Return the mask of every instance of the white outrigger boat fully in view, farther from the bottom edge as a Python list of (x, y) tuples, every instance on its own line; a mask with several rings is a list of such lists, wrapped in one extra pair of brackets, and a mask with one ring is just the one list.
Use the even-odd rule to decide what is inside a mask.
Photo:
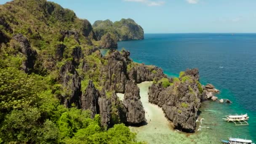
[(227, 122), (233, 122), (235, 125), (249, 125), (247, 121), (249, 117), (247, 114), (245, 115), (226, 115), (226, 118), (222, 118), (226, 120)]

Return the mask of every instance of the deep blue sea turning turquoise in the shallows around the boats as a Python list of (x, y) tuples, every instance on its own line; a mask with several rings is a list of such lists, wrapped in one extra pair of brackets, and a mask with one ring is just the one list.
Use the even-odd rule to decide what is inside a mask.
[[(161, 67), (170, 77), (197, 67), (200, 82), (212, 83), (219, 99), (232, 104), (207, 101), (202, 104), (205, 130), (216, 139), (239, 137), (256, 142), (256, 34), (145, 34), (144, 40), (118, 42), (118, 49), (131, 52), (139, 63)], [(248, 113), (249, 125), (235, 126), (221, 118)], [(215, 138), (213, 138), (215, 139)]]

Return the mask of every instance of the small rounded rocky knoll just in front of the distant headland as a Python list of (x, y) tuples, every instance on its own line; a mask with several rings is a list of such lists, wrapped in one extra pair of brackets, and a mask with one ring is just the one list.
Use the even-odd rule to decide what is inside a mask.
[(117, 48), (117, 40), (108, 32), (101, 37), (100, 48)]

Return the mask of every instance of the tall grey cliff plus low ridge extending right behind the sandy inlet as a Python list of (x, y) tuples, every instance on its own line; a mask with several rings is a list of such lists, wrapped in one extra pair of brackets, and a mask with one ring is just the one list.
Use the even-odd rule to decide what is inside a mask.
[[(104, 57), (107, 60), (107, 65), (101, 69), (101, 83), (106, 90), (124, 93), (125, 84), (128, 80), (141, 83), (146, 80), (154, 80), (154, 78), (157, 80), (166, 77), (163, 70), (155, 66), (136, 64), (133, 67), (134, 63), (129, 56), (129, 51), (119, 52), (112, 49)], [(128, 67), (131, 67), (131, 70), (128, 71)]]

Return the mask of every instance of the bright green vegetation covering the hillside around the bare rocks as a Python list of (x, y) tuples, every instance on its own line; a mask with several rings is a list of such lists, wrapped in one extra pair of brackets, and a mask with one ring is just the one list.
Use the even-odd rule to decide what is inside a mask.
[[(74, 64), (74, 67), (81, 77), (81, 91), (85, 91), (89, 80), (93, 80), (97, 89), (102, 88), (100, 71), (107, 60), (93, 50), (99, 42), (94, 40), (87, 20), (78, 19), (73, 11), (46, 0), (13, 0), (0, 5), (0, 21), (0, 33), (8, 39), (4, 42), (0, 39), (1, 144), (136, 143), (136, 134), (118, 124), (118, 107), (112, 107), (113, 125), (117, 125), (106, 130), (100, 123), (100, 115), (92, 119), (91, 112), (77, 109), (75, 104), (72, 108), (61, 104), (61, 96), (71, 93), (72, 81), (64, 85), (60, 78), (61, 67), (66, 62), (78, 62), (79, 66)], [(120, 33), (125, 31), (120, 29)], [(21, 71), (27, 59), (21, 51), (26, 48), (21, 50), (20, 43), (11, 39), (18, 33), (28, 40), (24, 45), (31, 45), (37, 52), (34, 73), (30, 75)], [(60, 44), (65, 48), (61, 59), (56, 60), (56, 54), (62, 55), (56, 51)], [(83, 54), (73, 53), (77, 47)], [(83, 60), (87, 70), (83, 70)], [(130, 69), (135, 65), (131, 63)], [(67, 76), (70, 78), (73, 74), (69, 72)], [(112, 92), (106, 94), (109, 98)]]

